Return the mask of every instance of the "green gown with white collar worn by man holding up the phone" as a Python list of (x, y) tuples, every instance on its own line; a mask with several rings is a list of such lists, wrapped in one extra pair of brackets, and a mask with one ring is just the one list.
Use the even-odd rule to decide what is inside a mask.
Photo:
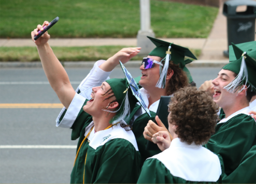
[[(60, 122), (73, 116), (73, 109), (79, 104), (78, 99), (84, 98), (76, 94), (68, 110), (61, 115)], [(79, 105), (80, 111), (71, 127), (72, 140), (79, 138), (77, 151), (94, 126), (92, 116), (82, 110), (87, 101)], [(65, 120), (63, 123), (65, 125)], [(117, 124), (96, 133), (93, 129), (81, 145), (70, 183), (136, 183), (140, 173), (140, 154), (133, 132), (125, 129), (130, 128), (122, 128)]]

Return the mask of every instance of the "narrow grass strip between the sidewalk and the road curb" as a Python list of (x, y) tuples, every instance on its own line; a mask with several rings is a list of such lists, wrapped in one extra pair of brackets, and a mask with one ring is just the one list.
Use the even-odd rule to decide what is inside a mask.
[[(52, 47), (56, 57), (61, 61), (96, 61), (108, 59), (125, 46), (98, 47)], [(201, 50), (190, 49), (198, 57)], [(142, 60), (143, 56), (135, 56), (132, 60)], [(0, 47), (0, 62), (34, 62), (39, 61), (35, 47)]]

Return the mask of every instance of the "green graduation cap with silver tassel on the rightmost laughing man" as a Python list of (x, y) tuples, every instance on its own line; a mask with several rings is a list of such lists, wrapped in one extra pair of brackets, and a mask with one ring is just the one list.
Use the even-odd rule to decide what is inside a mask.
[[(234, 93), (240, 86), (246, 84), (250, 91), (256, 91), (256, 41), (237, 45), (232, 43), (232, 47), (236, 60), (231, 61), (222, 69), (233, 71), (237, 76), (224, 89)], [(243, 89), (245, 86), (239, 91)]]

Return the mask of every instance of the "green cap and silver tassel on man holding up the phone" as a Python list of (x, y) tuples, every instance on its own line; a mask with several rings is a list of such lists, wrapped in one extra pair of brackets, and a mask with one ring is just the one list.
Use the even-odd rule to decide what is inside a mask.
[(110, 121), (112, 124), (120, 120), (126, 121), (129, 119), (130, 113), (133, 111), (138, 100), (133, 96), (131, 88), (126, 79), (109, 79), (106, 82), (110, 85), (113, 93), (117, 99), (120, 108), (117, 111), (103, 110), (109, 113), (116, 113), (117, 115)]

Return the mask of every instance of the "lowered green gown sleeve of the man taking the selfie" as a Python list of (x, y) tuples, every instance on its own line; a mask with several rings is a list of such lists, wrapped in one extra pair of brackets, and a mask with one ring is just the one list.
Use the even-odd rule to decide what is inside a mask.
[(108, 141), (96, 149), (94, 168), (97, 171), (93, 183), (136, 183), (140, 173), (140, 154), (124, 139)]

